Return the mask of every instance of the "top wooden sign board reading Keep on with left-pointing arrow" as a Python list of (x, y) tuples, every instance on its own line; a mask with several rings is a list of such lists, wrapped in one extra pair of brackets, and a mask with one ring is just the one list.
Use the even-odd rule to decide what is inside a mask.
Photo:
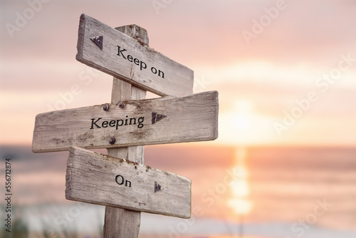
[(85, 14), (77, 60), (157, 95), (190, 95), (194, 73), (144, 43)]

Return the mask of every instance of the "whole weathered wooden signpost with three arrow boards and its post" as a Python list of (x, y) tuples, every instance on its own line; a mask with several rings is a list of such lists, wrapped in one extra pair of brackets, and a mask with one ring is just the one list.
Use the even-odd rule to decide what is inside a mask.
[[(70, 150), (66, 198), (105, 205), (106, 238), (137, 237), (140, 212), (189, 218), (191, 181), (143, 165), (142, 145), (215, 140), (218, 93), (192, 95), (193, 71), (148, 47), (135, 25), (82, 14), (76, 58), (114, 76), (111, 103), (37, 115), (33, 152)], [(165, 97), (144, 100), (146, 90)]]

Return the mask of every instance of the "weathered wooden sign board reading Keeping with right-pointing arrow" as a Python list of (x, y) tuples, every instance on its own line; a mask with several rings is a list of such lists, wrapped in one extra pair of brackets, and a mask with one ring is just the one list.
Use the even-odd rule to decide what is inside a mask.
[(36, 116), (33, 152), (215, 140), (218, 92), (127, 100)]

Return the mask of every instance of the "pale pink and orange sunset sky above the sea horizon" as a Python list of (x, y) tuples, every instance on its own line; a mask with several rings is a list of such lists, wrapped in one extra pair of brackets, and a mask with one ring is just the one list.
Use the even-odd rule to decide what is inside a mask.
[(112, 77), (75, 61), (82, 13), (144, 27), (195, 92), (219, 90), (213, 143), (356, 143), (354, 1), (29, 2), (1, 1), (0, 144), (31, 144), (35, 116), (74, 84), (63, 108), (110, 100)]

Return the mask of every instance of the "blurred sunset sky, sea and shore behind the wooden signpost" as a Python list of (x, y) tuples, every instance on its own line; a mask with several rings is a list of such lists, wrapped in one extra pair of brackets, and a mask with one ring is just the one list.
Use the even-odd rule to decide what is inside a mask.
[(151, 48), (192, 68), (194, 93), (219, 91), (217, 140), (145, 147), (146, 165), (192, 180), (192, 218), (142, 213), (140, 237), (356, 237), (355, 1), (1, 0), (0, 11), (13, 237), (103, 237), (105, 207), (64, 197), (68, 152), (31, 152), (38, 113), (110, 102), (112, 77), (75, 61), (83, 13), (142, 26)]

